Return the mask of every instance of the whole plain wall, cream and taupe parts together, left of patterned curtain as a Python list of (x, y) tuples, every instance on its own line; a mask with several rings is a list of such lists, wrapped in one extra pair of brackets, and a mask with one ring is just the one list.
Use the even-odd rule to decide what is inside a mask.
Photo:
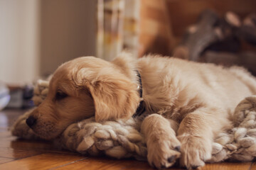
[(96, 2), (0, 0), (0, 81), (30, 83), (63, 62), (95, 55)]

